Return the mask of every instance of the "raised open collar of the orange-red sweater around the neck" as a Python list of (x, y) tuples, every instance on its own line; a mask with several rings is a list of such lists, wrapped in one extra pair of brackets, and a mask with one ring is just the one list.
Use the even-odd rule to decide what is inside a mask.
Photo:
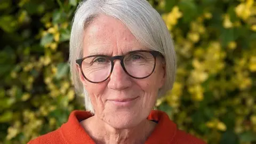
[[(95, 143), (79, 123), (91, 116), (93, 115), (89, 111), (74, 110), (71, 112), (68, 122), (60, 127), (61, 135), (67, 143)], [(163, 111), (158, 110), (151, 110), (148, 119), (157, 121), (158, 124), (145, 143), (171, 143), (177, 131), (176, 124)]]

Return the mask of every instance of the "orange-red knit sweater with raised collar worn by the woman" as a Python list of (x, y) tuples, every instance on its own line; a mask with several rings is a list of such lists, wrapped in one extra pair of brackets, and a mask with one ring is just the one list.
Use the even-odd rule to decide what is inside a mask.
[[(88, 111), (73, 111), (68, 122), (63, 124), (58, 130), (47, 133), (28, 142), (28, 144), (52, 144), (52, 143), (95, 143), (85, 132), (79, 121), (89, 118), (92, 115)], [(148, 119), (157, 122), (155, 130), (145, 143), (177, 143), (177, 144), (205, 144), (204, 141), (197, 139), (193, 135), (187, 134), (177, 129), (169, 117), (163, 112), (152, 110)]]

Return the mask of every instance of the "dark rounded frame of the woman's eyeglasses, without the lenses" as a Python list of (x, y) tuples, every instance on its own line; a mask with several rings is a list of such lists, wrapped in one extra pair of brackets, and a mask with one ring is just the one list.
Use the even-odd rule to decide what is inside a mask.
[[(150, 54), (153, 55), (154, 60), (155, 60), (155, 61), (154, 61), (154, 62), (155, 62), (155, 63), (154, 63), (154, 68), (153, 68), (153, 70), (151, 71), (151, 73), (150, 73), (148, 76), (145, 76), (145, 77), (134, 77), (134, 76), (130, 75), (130, 74), (127, 72), (127, 70), (125, 69), (125, 66), (124, 66), (124, 57), (125, 57), (126, 55), (128, 55), (128, 54), (135, 53), (135, 52), (148, 52), (148, 53), (150, 53)], [(158, 51), (147, 51), (147, 50), (130, 51), (129, 53), (126, 53), (125, 55), (116, 55), (116, 56), (114, 56), (114, 57), (110, 57), (109, 55), (97, 54), (97, 55), (90, 55), (90, 56), (84, 57), (84, 58), (82, 58), (82, 59), (77, 59), (77, 60), (76, 60), (76, 63), (77, 63), (77, 65), (79, 66), (79, 69), (80, 69), (80, 71), (81, 71), (83, 77), (84, 77), (87, 81), (89, 81), (89, 82), (91, 82), (91, 83), (102, 83), (102, 82), (106, 81), (106, 80), (111, 76), (111, 74), (112, 74), (112, 72), (113, 72), (113, 69), (114, 69), (114, 64), (115, 64), (115, 63), (114, 63), (114, 60), (117, 60), (117, 59), (120, 60), (121, 66), (122, 66), (123, 70), (125, 71), (125, 73), (126, 73), (127, 75), (129, 75), (129, 76), (132, 77), (132, 78), (143, 79), (143, 78), (147, 78), (147, 77), (149, 77), (151, 74), (153, 74), (153, 72), (154, 72), (154, 70), (155, 70), (155, 67), (156, 67), (156, 58), (157, 58), (157, 56), (158, 56), (159, 54), (161, 54), (161, 53), (158, 52)], [(90, 57), (106, 57), (106, 58), (108, 58), (108, 59), (111, 61), (111, 70), (110, 70), (110, 73), (109, 73), (108, 77), (107, 77), (106, 79), (104, 79), (103, 81), (100, 81), (100, 82), (93, 82), (93, 81), (90, 81), (90, 79), (86, 78), (86, 76), (84, 75), (83, 70), (82, 70), (82, 62), (83, 62), (84, 59), (90, 58)]]

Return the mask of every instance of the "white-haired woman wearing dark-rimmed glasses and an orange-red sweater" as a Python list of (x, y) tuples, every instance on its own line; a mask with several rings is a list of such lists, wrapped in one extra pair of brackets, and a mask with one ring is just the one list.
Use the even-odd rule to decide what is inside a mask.
[(73, 111), (58, 130), (29, 143), (204, 143), (177, 126), (156, 99), (172, 88), (173, 43), (144, 0), (79, 4), (70, 37), (70, 68), (88, 111)]

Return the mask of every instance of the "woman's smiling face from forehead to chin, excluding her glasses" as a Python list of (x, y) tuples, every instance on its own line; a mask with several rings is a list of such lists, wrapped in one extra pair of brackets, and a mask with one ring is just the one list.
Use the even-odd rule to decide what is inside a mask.
[[(135, 50), (149, 50), (131, 31), (113, 17), (100, 15), (84, 31), (83, 57), (94, 54), (124, 55)], [(89, 92), (95, 116), (116, 129), (134, 127), (147, 118), (165, 81), (165, 65), (157, 57), (154, 73), (144, 79), (130, 77), (120, 61), (115, 60), (107, 81), (90, 83), (79, 77)]]

